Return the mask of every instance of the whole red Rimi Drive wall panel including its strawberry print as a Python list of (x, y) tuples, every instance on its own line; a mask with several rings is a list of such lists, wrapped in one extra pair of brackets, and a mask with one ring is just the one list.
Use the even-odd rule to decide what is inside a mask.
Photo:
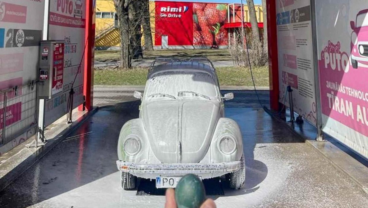
[[(226, 46), (227, 4), (155, 1), (155, 46)], [(185, 10), (185, 11), (184, 11)], [(180, 15), (180, 17), (179, 17)]]

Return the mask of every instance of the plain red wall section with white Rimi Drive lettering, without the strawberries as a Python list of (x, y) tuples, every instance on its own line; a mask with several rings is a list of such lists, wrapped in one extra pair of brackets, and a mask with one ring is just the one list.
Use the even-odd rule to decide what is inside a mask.
[(155, 45), (161, 45), (162, 35), (169, 46), (187, 46), (193, 42), (193, 3), (156, 1)]

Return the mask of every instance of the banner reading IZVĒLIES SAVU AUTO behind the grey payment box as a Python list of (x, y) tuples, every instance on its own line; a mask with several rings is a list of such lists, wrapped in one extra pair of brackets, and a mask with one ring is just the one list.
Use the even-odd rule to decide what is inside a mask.
[(74, 89), (73, 107), (83, 103), (85, 1), (50, 0), (49, 39), (65, 40), (65, 53), (63, 93), (46, 101), (46, 126), (67, 113), (67, 101), (71, 87)]

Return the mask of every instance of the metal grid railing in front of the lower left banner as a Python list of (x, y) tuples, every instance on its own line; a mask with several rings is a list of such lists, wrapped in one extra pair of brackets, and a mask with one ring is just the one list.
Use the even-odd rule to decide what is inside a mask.
[(0, 91), (0, 147), (38, 126), (37, 105), (36, 81)]

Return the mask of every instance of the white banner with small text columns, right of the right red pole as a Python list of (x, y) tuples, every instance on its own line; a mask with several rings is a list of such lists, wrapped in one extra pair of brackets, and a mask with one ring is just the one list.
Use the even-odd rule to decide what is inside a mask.
[(309, 0), (276, 0), (280, 102), (316, 125), (311, 6)]

